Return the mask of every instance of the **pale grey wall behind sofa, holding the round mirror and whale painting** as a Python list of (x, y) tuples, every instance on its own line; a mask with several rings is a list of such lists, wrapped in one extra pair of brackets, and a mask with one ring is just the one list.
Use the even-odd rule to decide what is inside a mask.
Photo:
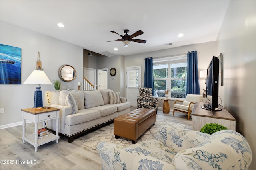
[[(2, 21), (0, 21), (0, 43), (22, 49), (21, 84), (0, 84), (0, 108), (5, 108), (5, 113), (0, 114), (0, 126), (22, 121), (20, 109), (34, 106), (36, 85), (22, 83), (36, 69), (38, 51), (42, 68), (51, 81), (60, 80), (58, 69), (64, 64), (70, 64), (76, 69), (75, 80), (72, 82), (61, 81), (60, 90), (64, 90), (68, 86), (77, 90), (78, 81), (82, 82), (83, 80), (82, 47)], [(45, 91), (55, 90), (53, 85), (42, 85), (41, 87), (43, 96)]]

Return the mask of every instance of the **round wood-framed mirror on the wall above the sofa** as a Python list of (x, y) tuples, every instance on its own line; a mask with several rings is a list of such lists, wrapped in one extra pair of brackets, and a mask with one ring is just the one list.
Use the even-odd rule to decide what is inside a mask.
[(70, 65), (63, 65), (59, 69), (59, 77), (64, 82), (70, 82), (76, 78), (76, 70)]

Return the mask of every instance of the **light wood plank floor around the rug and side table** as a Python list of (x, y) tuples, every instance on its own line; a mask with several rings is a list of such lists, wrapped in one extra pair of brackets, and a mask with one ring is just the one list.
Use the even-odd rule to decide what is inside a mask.
[[(131, 107), (131, 110), (136, 109)], [(172, 121), (186, 125), (186, 129), (192, 129), (192, 119), (187, 120), (184, 113), (172, 112), (164, 114), (158, 110), (157, 121)], [(38, 123), (38, 127), (42, 124)], [(35, 152), (34, 147), (22, 141), (22, 125), (0, 129), (0, 160), (6, 164), (0, 164), (0, 169), (15, 170), (100, 170), (102, 169), (100, 158), (96, 150), (86, 147), (82, 142), (90, 137), (94, 137), (105, 130), (113, 128), (113, 123), (82, 135), (72, 143), (68, 139), (60, 137), (59, 143), (56, 141), (41, 145)], [(34, 123), (26, 124), (26, 134), (34, 133)], [(131, 144), (132, 145), (132, 144)]]

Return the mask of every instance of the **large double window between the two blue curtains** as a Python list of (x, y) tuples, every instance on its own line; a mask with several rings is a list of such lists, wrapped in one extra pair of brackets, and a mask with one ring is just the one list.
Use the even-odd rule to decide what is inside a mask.
[(186, 98), (187, 56), (153, 59), (155, 96), (164, 97), (167, 88), (172, 98)]

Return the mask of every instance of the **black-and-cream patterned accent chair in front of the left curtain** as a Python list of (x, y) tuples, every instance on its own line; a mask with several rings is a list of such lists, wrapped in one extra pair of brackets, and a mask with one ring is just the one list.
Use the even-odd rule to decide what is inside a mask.
[(137, 109), (138, 108), (147, 108), (155, 109), (157, 114), (157, 98), (152, 96), (151, 87), (142, 87), (139, 88), (140, 96), (137, 96)]

